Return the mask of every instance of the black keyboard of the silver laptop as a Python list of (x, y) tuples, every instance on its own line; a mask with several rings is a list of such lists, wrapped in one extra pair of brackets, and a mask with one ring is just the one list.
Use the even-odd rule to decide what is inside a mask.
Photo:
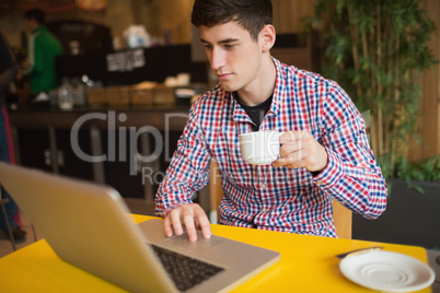
[(163, 267), (180, 291), (186, 291), (212, 276), (223, 271), (223, 268), (181, 255), (178, 253), (151, 245), (159, 256)]

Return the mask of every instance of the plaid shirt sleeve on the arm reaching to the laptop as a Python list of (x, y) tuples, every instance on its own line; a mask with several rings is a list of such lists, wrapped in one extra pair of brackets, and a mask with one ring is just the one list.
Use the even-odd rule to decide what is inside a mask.
[(162, 218), (184, 203), (192, 203), (195, 192), (209, 180), (211, 155), (194, 108), (155, 196), (155, 213)]

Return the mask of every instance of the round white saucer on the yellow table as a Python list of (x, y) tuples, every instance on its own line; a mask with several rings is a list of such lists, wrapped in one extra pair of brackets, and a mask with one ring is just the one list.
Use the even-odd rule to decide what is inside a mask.
[(371, 251), (347, 256), (339, 263), (343, 274), (369, 289), (408, 292), (432, 284), (432, 269), (413, 257), (392, 251)]

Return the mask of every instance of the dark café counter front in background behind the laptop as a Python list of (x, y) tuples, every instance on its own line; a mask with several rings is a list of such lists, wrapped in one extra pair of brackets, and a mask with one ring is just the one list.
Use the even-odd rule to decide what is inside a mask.
[(189, 105), (9, 110), (19, 164), (108, 184), (147, 201), (163, 178)]

